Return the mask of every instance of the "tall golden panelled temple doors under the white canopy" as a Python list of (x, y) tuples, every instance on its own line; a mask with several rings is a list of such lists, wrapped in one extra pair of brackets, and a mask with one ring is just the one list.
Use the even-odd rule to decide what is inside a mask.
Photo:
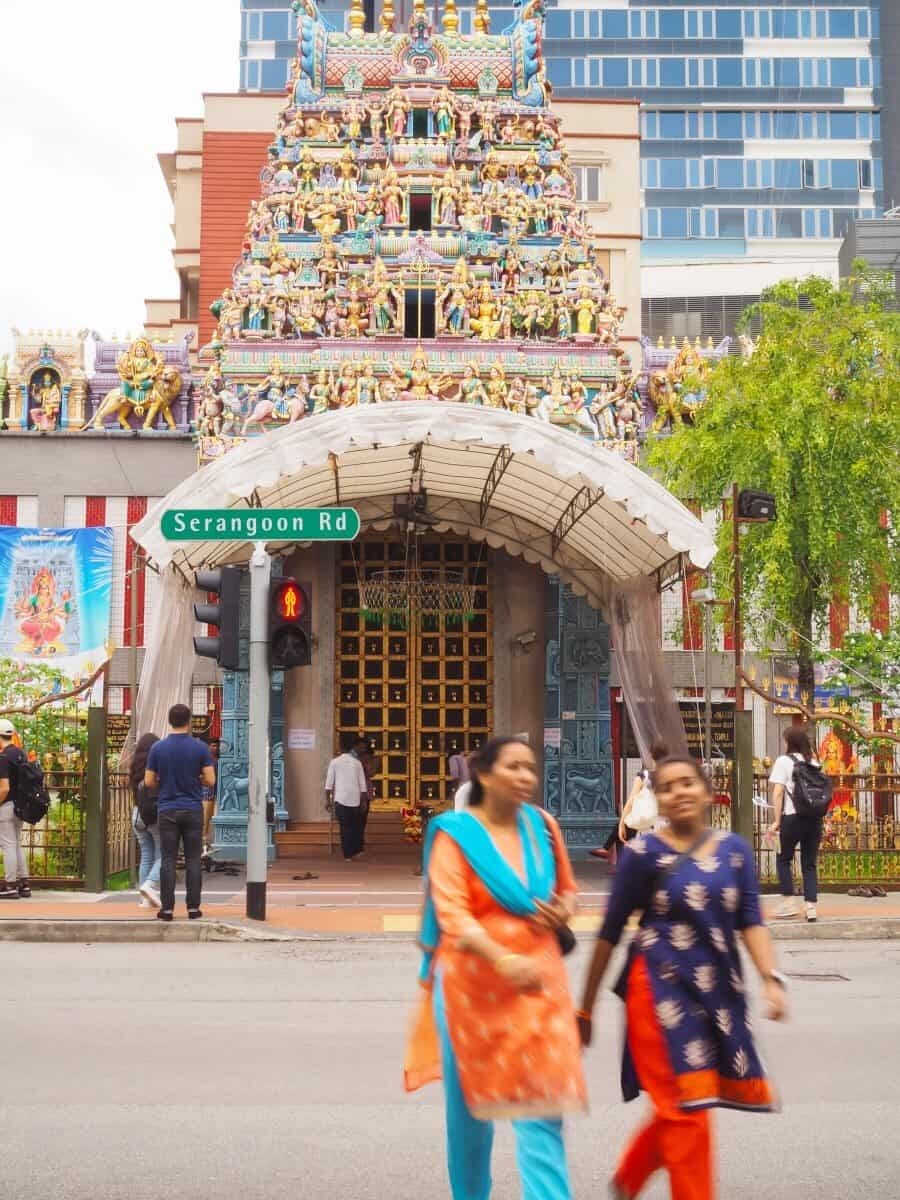
[[(360, 581), (409, 570), (463, 580), (469, 611), (365, 607)], [(452, 536), (425, 534), (410, 546), (370, 535), (341, 547), (336, 592), (335, 745), (342, 732), (371, 740), (378, 809), (442, 806), (452, 794), (450, 755), (480, 745), (493, 719), (487, 552)]]

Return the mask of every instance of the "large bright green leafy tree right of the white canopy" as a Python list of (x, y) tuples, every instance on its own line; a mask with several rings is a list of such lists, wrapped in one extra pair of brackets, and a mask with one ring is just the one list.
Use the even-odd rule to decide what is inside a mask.
[[(784, 282), (746, 311), (761, 334), (749, 359), (718, 364), (692, 426), (656, 438), (648, 468), (682, 499), (715, 509), (732, 484), (770, 492), (778, 520), (742, 539), (748, 631), (797, 658), (814, 691), (816, 628), (833, 596), (863, 610), (900, 584), (900, 319), (893, 278), (854, 264), (840, 287)], [(732, 589), (731, 529), (714, 577)]]

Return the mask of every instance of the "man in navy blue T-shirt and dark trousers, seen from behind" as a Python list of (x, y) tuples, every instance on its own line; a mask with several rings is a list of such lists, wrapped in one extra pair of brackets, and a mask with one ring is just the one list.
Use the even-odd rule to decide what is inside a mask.
[(214, 787), (216, 768), (209, 746), (191, 736), (191, 709), (173, 704), (169, 709), (169, 736), (150, 748), (144, 785), (158, 791), (160, 842), (160, 920), (172, 920), (175, 910), (175, 858), (178, 844), (185, 851), (187, 916), (200, 912), (200, 854), (203, 853), (203, 792)]

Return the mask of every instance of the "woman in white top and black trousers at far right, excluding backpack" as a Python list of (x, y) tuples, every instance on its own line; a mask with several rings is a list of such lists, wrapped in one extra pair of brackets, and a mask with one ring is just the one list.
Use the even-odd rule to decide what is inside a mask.
[(793, 770), (798, 762), (808, 762), (814, 767), (820, 766), (812, 754), (812, 746), (810, 745), (806, 731), (800, 725), (792, 725), (785, 730), (785, 752), (775, 760), (772, 774), (769, 775), (775, 820), (769, 826), (768, 832), (780, 836), (775, 866), (778, 869), (779, 887), (784, 896), (774, 916), (780, 920), (785, 920), (799, 917), (800, 914), (800, 900), (794, 895), (792, 875), (793, 856), (799, 846), (806, 920), (814, 922), (817, 916), (818, 870), (816, 863), (818, 859), (818, 846), (822, 841), (823, 816), (797, 811), (793, 802)]

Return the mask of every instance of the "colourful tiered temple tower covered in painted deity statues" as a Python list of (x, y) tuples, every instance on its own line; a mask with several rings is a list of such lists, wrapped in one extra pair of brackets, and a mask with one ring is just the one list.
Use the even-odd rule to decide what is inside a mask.
[[(502, 34), (376, 34), (296, 0), (298, 56), (233, 284), (214, 305), (200, 460), (329, 409), (502, 408), (634, 456), (624, 310), (586, 226), (541, 58), (542, 5)], [(238, 247), (235, 247), (238, 248)]]

